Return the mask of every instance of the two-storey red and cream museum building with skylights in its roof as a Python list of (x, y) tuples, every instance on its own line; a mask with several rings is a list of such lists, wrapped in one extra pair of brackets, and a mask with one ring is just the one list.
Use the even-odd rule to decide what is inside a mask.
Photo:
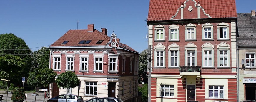
[[(71, 71), (80, 79), (78, 87), (68, 89), (88, 100), (93, 97), (117, 97), (137, 101), (139, 53), (120, 43), (114, 32), (107, 36), (88, 25), (85, 30), (69, 30), (50, 48), (50, 68), (61, 74)], [(50, 97), (66, 94), (56, 83), (49, 86)]]

